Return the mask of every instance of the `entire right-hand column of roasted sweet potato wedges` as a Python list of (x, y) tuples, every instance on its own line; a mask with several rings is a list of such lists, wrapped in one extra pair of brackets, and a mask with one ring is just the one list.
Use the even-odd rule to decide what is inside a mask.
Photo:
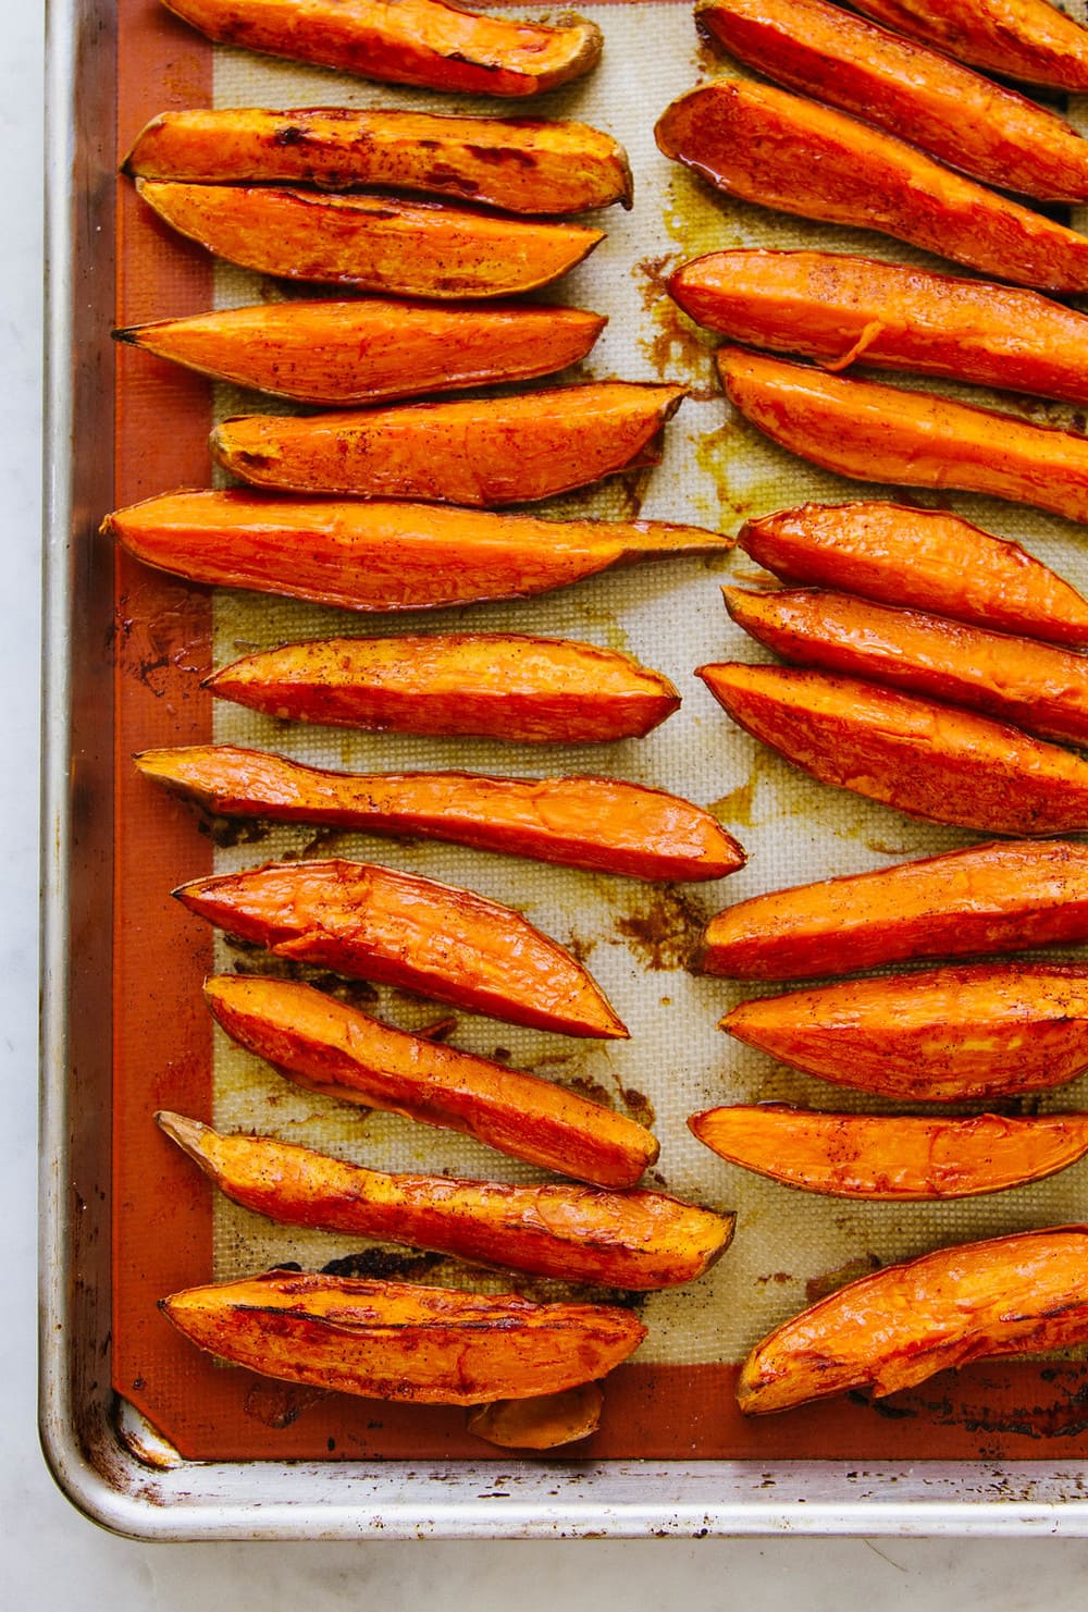
[[(969, 60), (1014, 74), (1020, 66), (1028, 77), (1028, 63), (1038, 69), (1044, 52), (1032, 56), (1025, 47), (1017, 55), (1017, 27), (1025, 35), (1036, 27), (1035, 42), (1046, 37), (1056, 56), (1064, 40), (1073, 64), (1067, 82), (1077, 82), (1075, 58), (1085, 53), (1083, 32), (1048, 6), (1003, 6), (1004, 50), (996, 52), (985, 39), (986, 29), (998, 29), (996, 10), (985, 3), (870, 6), (862, 0), (861, 8), (916, 35), (936, 31), (940, 44), (956, 40), (961, 53), (967, 44)], [(750, 202), (875, 227), (1025, 285), (1083, 284), (1075, 266), (1085, 261), (1082, 237), (1061, 226), (1049, 235), (1051, 221), (961, 181), (911, 148), (922, 145), (991, 184), (1036, 197), (1082, 198), (1088, 147), (1061, 119), (824, 0), (704, 0), (698, 21), (709, 39), (748, 66), (858, 114), (867, 126), (827, 106), (732, 81), (696, 90), (669, 108), (658, 126), (667, 155)], [(972, 55), (972, 42), (982, 42), (980, 53)], [(893, 137), (875, 132), (872, 124)], [(1043, 235), (1049, 235), (1056, 253), (1049, 266), (1035, 251)], [(1072, 329), (1059, 334), (1067, 310), (1030, 292), (827, 253), (766, 251), (720, 253), (688, 264), (671, 290), (701, 324), (733, 340), (814, 358), (827, 371), (862, 359), (877, 368), (1078, 400), (1078, 384), (1067, 385), (1059, 371), (1077, 361), (1082, 316), (1072, 314)], [(1003, 308), (1009, 316), (1004, 332)], [(1017, 358), (1012, 343), (1020, 335), (1025, 339)], [(1003, 351), (1006, 337), (1012, 342)], [(741, 351), (724, 351), (719, 366), (730, 400), (759, 429), (840, 474), (996, 493), (1078, 521), (1088, 514), (1088, 455), (1075, 434), (1041, 430), (945, 398), (843, 382)], [(740, 625), (787, 659), (819, 671), (729, 666), (704, 667), (701, 675), (741, 725), (816, 777), (935, 821), (1046, 832), (1048, 785), (1036, 761), (1041, 774), (1053, 764), (1054, 782), (1065, 769), (1072, 780), (1083, 762), (1054, 746), (1040, 748), (1015, 729), (1001, 730), (932, 704), (930, 696), (982, 708), (1048, 738), (1083, 743), (1075, 722), (1051, 722), (1044, 674), (1036, 679), (1027, 672), (1027, 687), (1019, 690), (1025, 667), (1032, 664), (1041, 674), (1054, 651), (1004, 637), (1027, 627), (1036, 640), (1083, 643), (1083, 632), (1069, 632), (1067, 622), (1062, 637), (1061, 625), (1048, 625), (1046, 611), (1035, 622), (1017, 619), (1022, 585), (1027, 582), (1030, 592), (1032, 582), (1041, 580), (1027, 556), (1014, 556), (1009, 545), (993, 543), (962, 522), (927, 513), (917, 513), (914, 521), (914, 514), (806, 509), (741, 532), (741, 545), (779, 575), (840, 588), (853, 582), (858, 593), (880, 603), (841, 592), (727, 590), (727, 606)], [(825, 548), (812, 535), (820, 524)], [(903, 538), (912, 527), (917, 555), (909, 551), (914, 534), (906, 545), (895, 537), (891, 545), (880, 542), (882, 529)], [(928, 538), (938, 530), (933, 546)], [(856, 537), (861, 542), (851, 553)], [(906, 559), (904, 579), (898, 575), (899, 559)], [(977, 595), (975, 559), (982, 561)], [(1024, 561), (1019, 575), (1015, 561)], [(820, 574), (822, 564), (828, 574)], [(999, 574), (1007, 582), (1004, 598)], [(941, 614), (920, 616), (919, 604)], [(986, 629), (964, 627), (964, 619), (982, 619)], [(1057, 653), (1061, 671), (1053, 663), (1049, 693), (1077, 703), (1088, 687), (1085, 663)], [(824, 671), (851, 675), (827, 677)], [(907, 688), (911, 696), (885, 696), (856, 677)], [(1009, 704), (1001, 698), (1006, 679)], [(927, 698), (917, 700), (917, 693)], [(980, 796), (969, 804), (975, 787)], [(1056, 827), (1051, 821), (1049, 832)], [(1062, 827), (1083, 827), (1083, 816), (1065, 819)], [(914, 956), (985, 953), (1006, 943), (1017, 948), (1080, 940), (1072, 912), (1073, 869), (1082, 856), (1083, 846), (1073, 843), (982, 846), (758, 896), (709, 925), (703, 966), (741, 978), (796, 978)], [(1059, 920), (1051, 929), (1053, 899), (1072, 919), (1069, 927)], [(741, 1003), (722, 1025), (795, 1067), (862, 1090), (899, 1099), (982, 1096), (1001, 1090), (998, 1049), (1006, 1035), (1014, 1048), (1006, 1090), (1015, 1090), (1020, 1075), (1048, 1080), (1057, 1074), (1064, 1016), (1069, 1009), (1073, 1020), (1078, 1017), (1086, 978), (1083, 969), (1073, 967), (946, 966)], [(1073, 1045), (1070, 1074), (1085, 1067), (1078, 1030), (1067, 1048)], [(1059, 1054), (1057, 1062), (1053, 1054)], [(1053, 1117), (1059, 1130), (1070, 1119), (1075, 1127), (1080, 1116)], [(880, 1138), (888, 1143), (880, 1154), (887, 1172), (882, 1185), (887, 1196), (895, 1196), (896, 1180), (912, 1170), (916, 1146), (925, 1153), (925, 1169), (938, 1170), (936, 1156), (945, 1161), (948, 1140), (949, 1170), (970, 1172), (974, 1140), (985, 1135), (982, 1146), (988, 1149), (1003, 1122), (967, 1122), (982, 1127), (975, 1138), (970, 1130), (953, 1136), (927, 1120), (796, 1114), (772, 1106), (754, 1111), (754, 1120), (745, 1109), (720, 1109), (695, 1124), (725, 1157), (751, 1165), (753, 1153), (764, 1149), (766, 1157), (774, 1154), (767, 1174), (795, 1185), (819, 1180), (824, 1190), (828, 1182), (851, 1180), (859, 1165), (870, 1169), (867, 1143), (872, 1138), (880, 1154)], [(869, 1183), (875, 1185), (872, 1177)], [(1057, 1332), (1048, 1330), (1035, 1309), (1048, 1285), (1035, 1256), (1049, 1259), (1082, 1236), (1083, 1227), (943, 1249), (853, 1283), (753, 1351), (741, 1372), (740, 1402), (750, 1412), (782, 1409), (866, 1383), (888, 1393), (938, 1365), (964, 1364), (1006, 1346), (1012, 1352), (1046, 1346)], [(1012, 1299), (1003, 1286), (1011, 1270), (1004, 1262), (1015, 1264), (1020, 1256), (1025, 1264), (1017, 1275), (1027, 1282)], [(998, 1343), (1017, 1306), (1025, 1332), (1019, 1341), (1007, 1332)], [(1062, 1341), (1082, 1341), (1083, 1314), (1073, 1319), (1077, 1306), (1070, 1309), (1067, 1301), (1059, 1307), (1070, 1320)], [(964, 1325), (965, 1317), (970, 1320)]]

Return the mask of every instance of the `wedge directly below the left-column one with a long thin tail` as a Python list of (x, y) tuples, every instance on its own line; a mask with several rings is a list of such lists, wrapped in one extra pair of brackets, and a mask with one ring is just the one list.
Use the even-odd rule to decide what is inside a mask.
[(208, 687), (300, 722), (530, 745), (640, 738), (680, 704), (627, 654), (498, 632), (290, 643), (234, 661)]

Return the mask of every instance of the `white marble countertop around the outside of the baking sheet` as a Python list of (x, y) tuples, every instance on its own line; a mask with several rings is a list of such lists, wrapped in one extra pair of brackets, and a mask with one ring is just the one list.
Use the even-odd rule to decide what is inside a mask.
[(39, 756), (39, 522), (42, 318), (42, 18), (8, 6), (0, 40), (0, 131), (8, 152), (0, 206), (8, 624), (0, 634), (0, 730), (6, 777), (0, 838), (0, 1056), (5, 1062), (8, 1296), (0, 1306), (0, 1607), (29, 1612), (261, 1612), (380, 1606), (385, 1612), (643, 1612), (730, 1604), (762, 1612), (856, 1604), (1073, 1612), (1088, 1599), (1088, 1541), (737, 1539), (583, 1544), (172, 1544), (118, 1539), (53, 1486), (35, 1430), (35, 924)]

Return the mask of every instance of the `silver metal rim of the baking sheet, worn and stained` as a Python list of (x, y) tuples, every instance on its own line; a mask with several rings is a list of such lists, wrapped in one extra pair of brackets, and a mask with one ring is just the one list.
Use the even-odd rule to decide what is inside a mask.
[(179, 1460), (116, 1402), (110, 1062), (97, 1035), (108, 958), (87, 946), (85, 924), (108, 914), (111, 887), (110, 703), (98, 698), (110, 653), (93, 609), (103, 577), (89, 559), (111, 466), (74, 453), (92, 419), (100, 430), (103, 400), (111, 406), (103, 243), (113, 239), (114, 44), (110, 0), (50, 0), (39, 1425), (56, 1483), (93, 1522), (161, 1541), (1088, 1536), (1083, 1462), (200, 1464)]

